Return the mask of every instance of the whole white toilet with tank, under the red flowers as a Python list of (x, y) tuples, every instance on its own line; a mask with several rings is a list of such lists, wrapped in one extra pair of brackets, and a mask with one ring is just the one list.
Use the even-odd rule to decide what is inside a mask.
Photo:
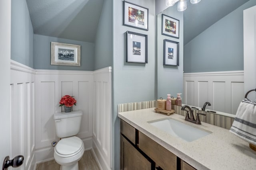
[(82, 111), (54, 113), (56, 135), (61, 138), (54, 148), (54, 159), (60, 170), (78, 170), (78, 160), (84, 154), (84, 143), (76, 137), (81, 125)]

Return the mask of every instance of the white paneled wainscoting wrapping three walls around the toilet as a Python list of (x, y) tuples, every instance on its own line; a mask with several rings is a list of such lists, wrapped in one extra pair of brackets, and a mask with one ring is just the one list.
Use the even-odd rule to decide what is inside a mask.
[[(20, 168), (53, 159), (52, 141), (58, 141), (53, 115), (64, 95), (74, 96), (82, 110), (78, 137), (92, 149), (102, 169), (111, 169), (111, 67), (96, 71), (35, 70), (11, 61), (12, 154), (24, 155)], [(94, 125), (94, 126), (93, 126)]]

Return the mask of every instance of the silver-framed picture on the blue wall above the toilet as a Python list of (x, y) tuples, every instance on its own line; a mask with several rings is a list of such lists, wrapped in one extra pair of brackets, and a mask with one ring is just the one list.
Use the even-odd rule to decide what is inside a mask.
[(51, 65), (80, 66), (80, 45), (51, 42)]

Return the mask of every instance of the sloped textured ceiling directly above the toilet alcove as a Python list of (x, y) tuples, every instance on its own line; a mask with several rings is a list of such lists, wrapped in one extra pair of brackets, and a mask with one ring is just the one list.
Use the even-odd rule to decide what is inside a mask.
[(104, 0), (26, 0), (35, 34), (94, 42)]

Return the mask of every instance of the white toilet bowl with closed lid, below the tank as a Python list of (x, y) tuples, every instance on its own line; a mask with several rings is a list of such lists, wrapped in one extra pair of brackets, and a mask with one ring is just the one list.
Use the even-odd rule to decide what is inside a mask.
[(61, 165), (60, 170), (78, 170), (83, 154), (84, 143), (75, 136), (60, 140), (54, 148), (54, 159)]

